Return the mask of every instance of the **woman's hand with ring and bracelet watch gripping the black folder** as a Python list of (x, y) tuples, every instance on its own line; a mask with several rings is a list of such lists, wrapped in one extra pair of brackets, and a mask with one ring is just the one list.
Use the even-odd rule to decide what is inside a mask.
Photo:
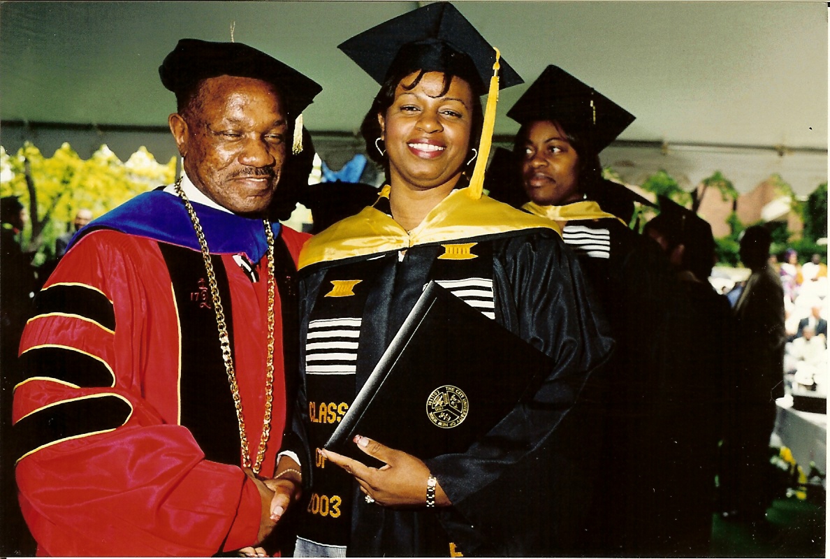
[[(429, 468), (412, 454), (390, 449), (366, 437), (356, 436), (354, 442), (364, 453), (386, 463), (383, 468), (369, 468), (342, 454), (320, 449), (320, 454), (354, 476), (361, 490), (385, 507), (423, 506), (427, 503)], [(438, 507), (452, 505), (440, 483), (435, 488)]]

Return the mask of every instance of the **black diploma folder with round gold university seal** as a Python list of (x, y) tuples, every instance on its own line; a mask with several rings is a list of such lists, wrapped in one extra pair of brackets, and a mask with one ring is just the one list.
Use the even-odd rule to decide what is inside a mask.
[(463, 453), (553, 360), (430, 282), (349, 406), (325, 449), (361, 461), (359, 434), (417, 458)]

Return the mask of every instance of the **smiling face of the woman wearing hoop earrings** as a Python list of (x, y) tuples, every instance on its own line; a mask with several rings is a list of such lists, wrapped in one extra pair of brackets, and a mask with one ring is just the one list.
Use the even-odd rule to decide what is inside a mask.
[(450, 190), (461, 177), (470, 147), (472, 90), (458, 77), (447, 87), (441, 72), (427, 72), (407, 89), (417, 75), (398, 83), (393, 104), (378, 115), (389, 178), (393, 188)]

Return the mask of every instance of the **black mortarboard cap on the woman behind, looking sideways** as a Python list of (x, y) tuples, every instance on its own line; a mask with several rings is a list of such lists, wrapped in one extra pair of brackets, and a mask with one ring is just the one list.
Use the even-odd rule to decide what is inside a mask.
[(565, 132), (585, 135), (599, 153), (635, 116), (558, 66), (548, 66), (507, 115), (525, 125), (554, 120)]

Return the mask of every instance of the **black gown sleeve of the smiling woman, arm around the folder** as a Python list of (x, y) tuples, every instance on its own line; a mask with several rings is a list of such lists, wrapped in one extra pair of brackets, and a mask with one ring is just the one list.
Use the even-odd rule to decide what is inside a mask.
[[(557, 428), (588, 375), (608, 359), (613, 341), (574, 254), (555, 236), (506, 239), (496, 248), (497, 314), (503, 324), (554, 359), (535, 395), (464, 454), (427, 461), (452, 501), (442, 525), (461, 550), (525, 554), (523, 534), (503, 532), (505, 512), (520, 514), (535, 498), (539, 478), (511, 470)], [(505, 371), (510, 374), (510, 371)], [(486, 381), (483, 380), (482, 381)], [(531, 471), (553, 467), (540, 453)]]

